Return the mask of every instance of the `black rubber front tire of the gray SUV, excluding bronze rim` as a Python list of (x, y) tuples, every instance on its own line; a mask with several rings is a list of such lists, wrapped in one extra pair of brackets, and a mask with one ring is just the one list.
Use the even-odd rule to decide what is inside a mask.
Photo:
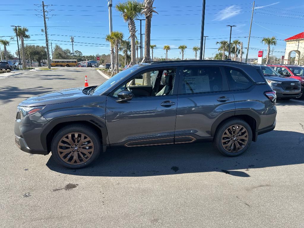
[[(66, 136), (67, 134), (73, 134), (73, 133), (80, 133), (81, 136), (82, 134), (88, 136), (90, 138), (90, 140), (88, 142), (90, 142), (89, 144), (93, 143), (93, 152), (91, 154), (91, 157), (88, 158), (87, 161), (85, 161), (85, 159), (82, 159), (81, 156), (83, 157), (86, 156), (84, 153), (79, 153), (79, 150), (81, 151), (81, 149), (83, 148), (78, 148), (78, 152), (74, 152), (74, 154), (77, 154), (76, 156), (76, 164), (71, 164), (71, 163), (67, 163), (63, 160), (63, 158), (67, 158), (67, 157), (71, 157), (74, 159), (74, 154), (73, 152), (69, 153), (69, 152), (66, 152), (67, 156), (66, 157), (63, 157), (61, 158), (59, 153), (58, 153), (58, 148), (60, 148), (61, 146), (58, 145), (60, 142), (62, 142), (62, 138), (64, 136)], [(77, 134), (78, 135), (78, 134)], [(76, 135), (74, 134), (74, 136), (76, 137)], [(74, 137), (74, 141), (72, 139), (73, 142), (77, 142), (77, 140), (75, 140), (75, 137)], [(77, 138), (79, 139), (79, 138)], [(81, 139), (79, 139), (78, 142), (80, 142)], [(87, 143), (87, 142), (84, 142), (84, 143)], [(77, 147), (79, 146), (82, 146), (82, 147), (85, 147), (84, 143), (82, 143), (81, 145), (77, 145), (75, 144)], [(61, 143), (60, 143), (61, 144)], [(74, 146), (74, 148), (76, 148), (76, 146)], [(62, 147), (61, 147), (62, 148)], [(63, 148), (70, 148), (70, 146), (68, 147), (63, 147)], [(72, 148), (71, 150), (74, 151), (74, 148)], [(91, 127), (87, 126), (87, 125), (84, 125), (84, 124), (70, 124), (70, 125), (67, 125), (63, 128), (61, 128), (53, 137), (53, 140), (51, 142), (51, 151), (52, 151), (52, 155), (55, 159), (55, 161), (62, 165), (62, 166), (65, 166), (67, 168), (71, 168), (71, 169), (78, 169), (78, 168), (83, 168), (83, 167), (86, 167), (88, 166), (89, 164), (91, 164), (92, 162), (94, 162), (99, 154), (100, 154), (100, 150), (102, 149), (102, 145), (101, 145), (101, 138), (100, 136), (98, 135), (98, 133)], [(66, 149), (59, 149), (59, 150), (66, 150)], [(61, 152), (60, 152), (61, 153)], [(64, 153), (62, 153), (64, 154)], [(61, 154), (61, 155), (62, 155)], [(64, 155), (65, 156), (65, 155)], [(86, 156), (87, 157), (87, 156)], [(81, 161), (80, 161), (81, 160)], [(69, 161), (69, 160), (68, 160)], [(82, 162), (81, 164), (77, 164), (77, 162)], [(75, 162), (75, 160), (74, 160)]]

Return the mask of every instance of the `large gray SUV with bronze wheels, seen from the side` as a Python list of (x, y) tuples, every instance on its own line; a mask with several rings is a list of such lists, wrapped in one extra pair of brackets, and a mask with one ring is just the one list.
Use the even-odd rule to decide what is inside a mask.
[(276, 95), (260, 66), (231, 60), (137, 64), (99, 86), (37, 95), (17, 107), (15, 141), (68, 168), (92, 163), (107, 147), (213, 141), (244, 153), (275, 128)]

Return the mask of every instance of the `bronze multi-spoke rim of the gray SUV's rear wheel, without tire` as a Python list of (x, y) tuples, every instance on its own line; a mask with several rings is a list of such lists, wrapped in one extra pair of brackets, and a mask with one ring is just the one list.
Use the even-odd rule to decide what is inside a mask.
[(248, 142), (248, 131), (242, 125), (235, 124), (228, 127), (222, 135), (222, 146), (229, 153), (237, 153)]

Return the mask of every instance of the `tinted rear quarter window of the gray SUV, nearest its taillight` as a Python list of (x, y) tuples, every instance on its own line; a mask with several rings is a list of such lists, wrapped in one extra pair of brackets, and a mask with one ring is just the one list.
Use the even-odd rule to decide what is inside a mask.
[(224, 67), (230, 90), (247, 89), (252, 82), (242, 72), (234, 68)]

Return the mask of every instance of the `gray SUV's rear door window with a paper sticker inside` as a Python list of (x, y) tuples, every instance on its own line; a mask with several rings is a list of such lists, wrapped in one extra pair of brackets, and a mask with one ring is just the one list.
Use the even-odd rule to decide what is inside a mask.
[(222, 91), (219, 67), (184, 67), (182, 94)]

